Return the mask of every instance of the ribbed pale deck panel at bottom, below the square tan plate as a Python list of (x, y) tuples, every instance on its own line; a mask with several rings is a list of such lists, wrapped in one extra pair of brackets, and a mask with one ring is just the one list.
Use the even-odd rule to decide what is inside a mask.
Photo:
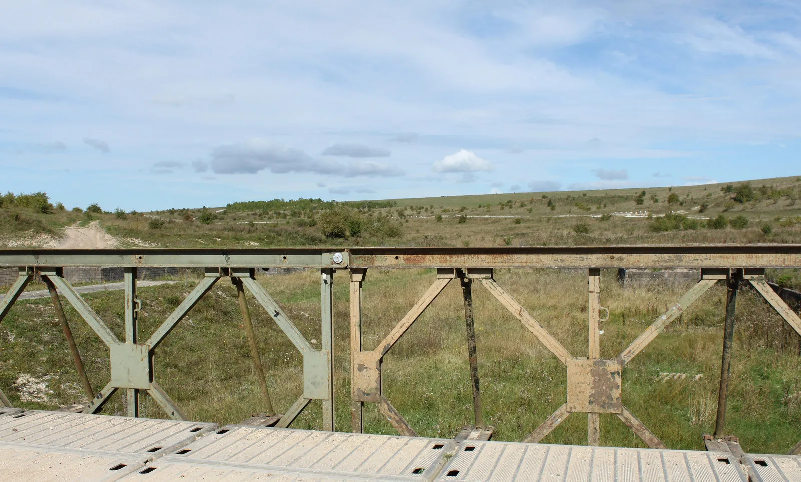
[[(747, 482), (731, 454), (636, 448), (462, 442), (437, 480)], [(790, 479), (792, 480), (792, 479)]]

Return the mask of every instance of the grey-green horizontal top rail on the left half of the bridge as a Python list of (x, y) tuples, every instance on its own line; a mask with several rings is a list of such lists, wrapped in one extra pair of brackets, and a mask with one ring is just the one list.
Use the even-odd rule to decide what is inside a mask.
[[(335, 254), (342, 255), (336, 263)], [(339, 259), (339, 256), (337, 256)], [(336, 248), (0, 249), (0, 267), (345, 267)]]

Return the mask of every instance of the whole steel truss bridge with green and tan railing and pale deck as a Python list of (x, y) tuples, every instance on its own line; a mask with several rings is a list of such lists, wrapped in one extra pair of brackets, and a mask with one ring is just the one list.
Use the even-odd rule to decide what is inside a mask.
[[(727, 394), (735, 307), (741, 284), (749, 284), (801, 335), (801, 319), (768, 286), (767, 268), (801, 267), (801, 245), (670, 247), (355, 247), (271, 249), (0, 250), (0, 267), (18, 277), (0, 300), (0, 322), (18, 295), (38, 277), (52, 303), (91, 400), (81, 413), (10, 407), (0, 392), (0, 478), (29, 480), (801, 480), (801, 441), (787, 455), (748, 454), (726, 430)], [(64, 278), (65, 267), (123, 267), (125, 337), (107, 323)], [(137, 270), (200, 268), (205, 276), (150, 335), (139, 333)], [(256, 268), (304, 267), (320, 271), (321, 347), (316, 349), (256, 282)], [(587, 356), (570, 353), (493, 278), (497, 268), (577, 268), (588, 286)], [(372, 268), (435, 268), (421, 299), (372, 350), (362, 345), (362, 287)], [(604, 268), (694, 268), (698, 280), (614, 359), (602, 359), (600, 277)], [(335, 334), (332, 286), (336, 273), (350, 285), (350, 383), (352, 432), (334, 429)], [(234, 283), (254, 369), (268, 411), (244, 424), (218, 427), (186, 420), (179, 404), (153, 372), (159, 343), (222, 278)], [(464, 299), (474, 424), (454, 440), (417, 436), (382, 386), (382, 360), (445, 287), (458, 283)], [(674, 319), (716, 283), (727, 285), (726, 320), (714, 434), (706, 452), (670, 450), (623, 404), (622, 376), (630, 363)], [(566, 400), (521, 442), (490, 440), (477, 375), (473, 285), (480, 284), (533, 333), (564, 365)], [(283, 414), (272, 408), (246, 297), (263, 307), (303, 356), (303, 394)], [(83, 369), (62, 310), (62, 299), (107, 345), (110, 380), (99, 392)], [(97, 382), (98, 380), (95, 380)], [(103, 416), (103, 405), (123, 391), (127, 416)], [(170, 420), (139, 417), (139, 399), (150, 396)], [(320, 400), (319, 431), (291, 428), (297, 416)], [(398, 436), (365, 434), (362, 409), (376, 404)], [(649, 447), (600, 446), (600, 414), (614, 414)], [(586, 414), (588, 447), (541, 444), (568, 416)], [(799, 428), (801, 439), (801, 428)]]

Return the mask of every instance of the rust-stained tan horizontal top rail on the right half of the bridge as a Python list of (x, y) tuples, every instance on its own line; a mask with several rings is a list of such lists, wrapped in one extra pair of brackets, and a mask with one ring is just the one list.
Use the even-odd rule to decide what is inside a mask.
[(801, 245), (356, 247), (349, 267), (801, 267)]

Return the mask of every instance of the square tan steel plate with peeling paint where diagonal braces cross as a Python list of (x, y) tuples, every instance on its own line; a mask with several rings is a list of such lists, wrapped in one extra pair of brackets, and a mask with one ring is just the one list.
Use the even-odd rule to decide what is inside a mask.
[(567, 361), (567, 411), (621, 413), (620, 374), (615, 359), (569, 359)]

